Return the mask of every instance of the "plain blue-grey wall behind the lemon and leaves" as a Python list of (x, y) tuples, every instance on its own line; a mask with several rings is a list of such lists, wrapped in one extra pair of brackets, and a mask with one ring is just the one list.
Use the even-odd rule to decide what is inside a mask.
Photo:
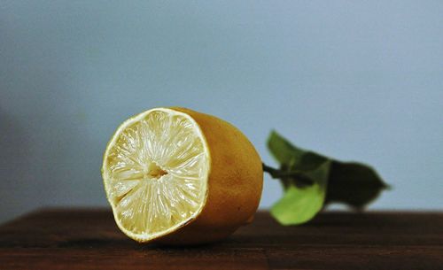
[[(99, 168), (128, 116), (229, 120), (270, 165), (271, 128), (375, 166), (371, 209), (443, 206), (443, 2), (0, 1), (0, 220), (107, 205)], [(281, 195), (265, 179), (261, 207)]]

